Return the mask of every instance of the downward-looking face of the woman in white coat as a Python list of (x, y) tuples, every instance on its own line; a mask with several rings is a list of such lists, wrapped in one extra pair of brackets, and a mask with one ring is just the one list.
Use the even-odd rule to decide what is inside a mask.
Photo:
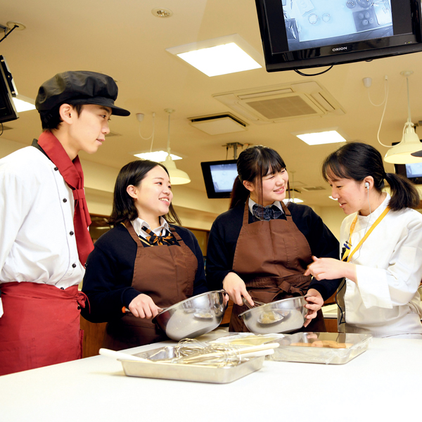
[(331, 196), (338, 200), (338, 204), (345, 214), (360, 212), (362, 215), (368, 215), (369, 203), (368, 193), (364, 186), (365, 181), (331, 179), (331, 177), (327, 177), (327, 179), (331, 186)]

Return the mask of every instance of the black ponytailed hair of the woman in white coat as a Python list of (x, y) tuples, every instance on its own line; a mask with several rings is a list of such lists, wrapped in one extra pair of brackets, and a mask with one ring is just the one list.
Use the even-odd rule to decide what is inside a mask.
[(411, 182), (395, 173), (385, 173), (383, 158), (376, 148), (362, 142), (350, 142), (338, 148), (324, 160), (322, 176), (326, 181), (353, 179), (362, 181), (365, 177), (373, 177), (373, 187), (381, 194), (384, 179), (388, 181), (391, 199), (388, 204), (391, 210), (399, 211), (406, 207), (415, 208), (420, 199)]

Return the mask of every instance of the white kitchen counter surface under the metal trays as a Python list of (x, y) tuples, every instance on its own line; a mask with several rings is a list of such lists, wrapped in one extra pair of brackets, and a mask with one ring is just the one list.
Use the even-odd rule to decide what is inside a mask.
[(374, 338), (345, 365), (265, 361), (207, 384), (132, 378), (95, 356), (0, 376), (0, 421), (404, 421), (421, 417), (421, 359), (422, 340)]

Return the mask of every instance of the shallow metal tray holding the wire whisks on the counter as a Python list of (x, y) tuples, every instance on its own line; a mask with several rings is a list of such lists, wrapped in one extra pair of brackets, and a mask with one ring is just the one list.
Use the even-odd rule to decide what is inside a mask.
[(151, 359), (151, 363), (119, 359), (127, 376), (217, 384), (231, 383), (243, 376), (258, 371), (262, 368), (265, 358), (264, 356), (254, 357), (236, 366), (222, 367), (153, 362), (156, 359), (173, 358), (174, 347), (171, 346), (148, 350), (148, 352), (137, 353), (134, 356)]

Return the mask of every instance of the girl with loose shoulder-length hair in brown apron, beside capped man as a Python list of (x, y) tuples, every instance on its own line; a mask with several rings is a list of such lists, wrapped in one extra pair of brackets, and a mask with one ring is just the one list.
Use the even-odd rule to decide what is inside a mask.
[[(134, 161), (120, 170), (110, 217), (115, 227), (94, 245), (82, 288), (91, 306), (82, 315), (108, 322), (103, 347), (167, 340), (151, 319), (160, 308), (207, 291), (198, 241), (167, 224), (179, 222), (171, 200), (167, 170), (157, 162)], [(124, 307), (131, 313), (123, 314)]]

